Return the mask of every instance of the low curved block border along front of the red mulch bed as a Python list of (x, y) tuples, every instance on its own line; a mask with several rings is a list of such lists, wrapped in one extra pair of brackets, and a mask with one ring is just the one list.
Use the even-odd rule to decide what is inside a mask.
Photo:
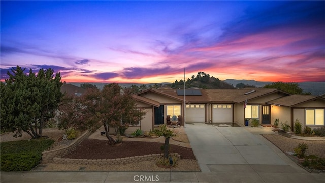
[[(164, 154), (152, 154), (152, 155), (143, 155), (143, 156), (134, 156), (127, 158), (116, 158), (116, 159), (106, 159), (106, 160), (92, 160), (92, 159), (70, 159), (70, 158), (53, 158), (52, 163), (58, 164), (82, 164), (82, 165), (120, 165), (126, 163), (134, 163), (140, 161), (150, 161), (155, 160), (159, 156)], [(181, 159), (181, 156), (178, 153), (171, 153), (178, 160)]]

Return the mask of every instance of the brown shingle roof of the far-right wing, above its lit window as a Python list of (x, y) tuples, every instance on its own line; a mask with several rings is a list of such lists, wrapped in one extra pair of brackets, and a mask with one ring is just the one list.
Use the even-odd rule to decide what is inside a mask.
[(288, 106), (288, 107), (292, 107), (295, 106), (297, 104), (303, 103), (303, 102), (307, 102), (310, 100), (314, 100), (316, 98), (319, 99), (323, 99), (322, 97), (316, 97), (316, 96), (311, 96), (311, 95), (290, 95), (290, 96), (285, 96), (279, 99), (275, 99), (272, 101), (267, 102), (268, 104), (273, 104), (273, 105), (280, 105), (280, 106)]

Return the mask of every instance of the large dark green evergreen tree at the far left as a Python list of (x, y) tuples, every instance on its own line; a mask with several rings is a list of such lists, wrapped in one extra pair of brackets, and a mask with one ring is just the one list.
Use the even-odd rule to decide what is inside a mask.
[(1, 84), (1, 128), (16, 132), (16, 137), (26, 132), (40, 138), (63, 96), (60, 73), (53, 78), (52, 69), (40, 69), (37, 75), (30, 69), (27, 75), (19, 66), (11, 71), (13, 74), (7, 72), (6, 84)]

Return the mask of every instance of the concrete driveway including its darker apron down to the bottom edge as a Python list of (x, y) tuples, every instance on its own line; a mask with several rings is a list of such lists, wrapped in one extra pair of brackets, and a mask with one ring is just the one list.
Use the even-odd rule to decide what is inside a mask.
[(197, 174), (201, 181), (325, 181), (323, 175), (311, 175), (260, 135), (274, 133), (271, 128), (191, 123), (185, 124), (185, 131), (202, 171)]

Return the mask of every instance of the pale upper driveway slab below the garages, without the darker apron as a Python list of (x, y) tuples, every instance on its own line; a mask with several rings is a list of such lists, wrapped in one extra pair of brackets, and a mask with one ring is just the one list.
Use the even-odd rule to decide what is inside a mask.
[(245, 127), (193, 123), (185, 130), (203, 172), (211, 171), (209, 165), (220, 164), (288, 165), (268, 146), (271, 143)]

